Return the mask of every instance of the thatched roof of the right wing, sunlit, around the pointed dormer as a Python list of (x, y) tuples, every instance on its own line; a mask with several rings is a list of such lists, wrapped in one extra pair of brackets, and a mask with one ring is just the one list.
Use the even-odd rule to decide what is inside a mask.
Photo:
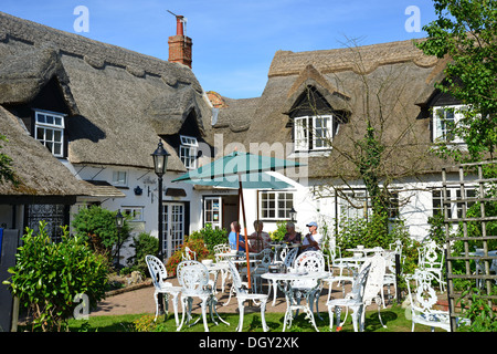
[[(423, 55), (412, 41), (300, 53), (278, 51), (262, 96), (252, 98), (251, 105), (225, 98), (230, 104), (220, 108), (224, 121), (215, 133), (226, 133), (224, 144), (240, 142), (246, 149), (256, 142), (285, 146), (293, 142), (295, 104), (313, 86), (334, 112), (347, 115), (348, 122), (340, 125), (329, 157), (309, 158), (309, 177), (357, 176), (353, 164), (339, 150), (357, 153), (353, 142), (363, 137), (364, 117), (371, 116), (379, 124), (380, 107), (382, 139), (391, 146), (385, 170), (405, 176), (438, 171), (441, 160), (429, 153), (430, 118), (421, 110), (433, 96), (444, 65), (444, 60)], [(369, 110), (364, 104), (368, 92)]]

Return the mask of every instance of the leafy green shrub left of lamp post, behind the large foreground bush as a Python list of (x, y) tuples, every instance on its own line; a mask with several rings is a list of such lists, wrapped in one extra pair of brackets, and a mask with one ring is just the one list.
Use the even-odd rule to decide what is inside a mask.
[[(110, 211), (99, 206), (82, 208), (72, 222), (74, 233), (87, 237), (95, 252), (113, 258), (113, 248), (117, 249), (129, 238), (129, 223), (124, 220), (120, 235), (116, 226), (117, 211)], [(118, 242), (119, 241), (119, 242)]]

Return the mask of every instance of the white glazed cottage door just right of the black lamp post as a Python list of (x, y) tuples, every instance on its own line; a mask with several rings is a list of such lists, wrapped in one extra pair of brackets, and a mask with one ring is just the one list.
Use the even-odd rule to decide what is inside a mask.
[(176, 248), (183, 243), (184, 205), (181, 202), (165, 202), (163, 205), (163, 254), (165, 259), (172, 256)]

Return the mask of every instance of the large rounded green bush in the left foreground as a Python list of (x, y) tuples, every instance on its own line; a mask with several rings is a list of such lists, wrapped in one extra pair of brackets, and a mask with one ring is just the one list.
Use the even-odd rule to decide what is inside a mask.
[(107, 261), (96, 254), (81, 237), (71, 237), (63, 228), (62, 241), (53, 243), (40, 222), (38, 233), (27, 229), (23, 246), (15, 254), (15, 267), (9, 284), (12, 295), (32, 312), (32, 330), (61, 331), (66, 327), (80, 302), (88, 298), (89, 306), (104, 299), (107, 284)]

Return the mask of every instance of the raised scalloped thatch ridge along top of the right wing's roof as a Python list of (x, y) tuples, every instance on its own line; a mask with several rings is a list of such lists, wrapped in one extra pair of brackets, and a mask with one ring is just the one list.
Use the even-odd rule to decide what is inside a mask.
[[(357, 64), (357, 55), (360, 55), (361, 65)], [(368, 74), (380, 65), (413, 62), (417, 66), (430, 67), (437, 61), (434, 56), (424, 55), (414, 45), (413, 40), (331, 50), (277, 51), (271, 63), (268, 76), (298, 75), (308, 64), (322, 74), (340, 71)]]

